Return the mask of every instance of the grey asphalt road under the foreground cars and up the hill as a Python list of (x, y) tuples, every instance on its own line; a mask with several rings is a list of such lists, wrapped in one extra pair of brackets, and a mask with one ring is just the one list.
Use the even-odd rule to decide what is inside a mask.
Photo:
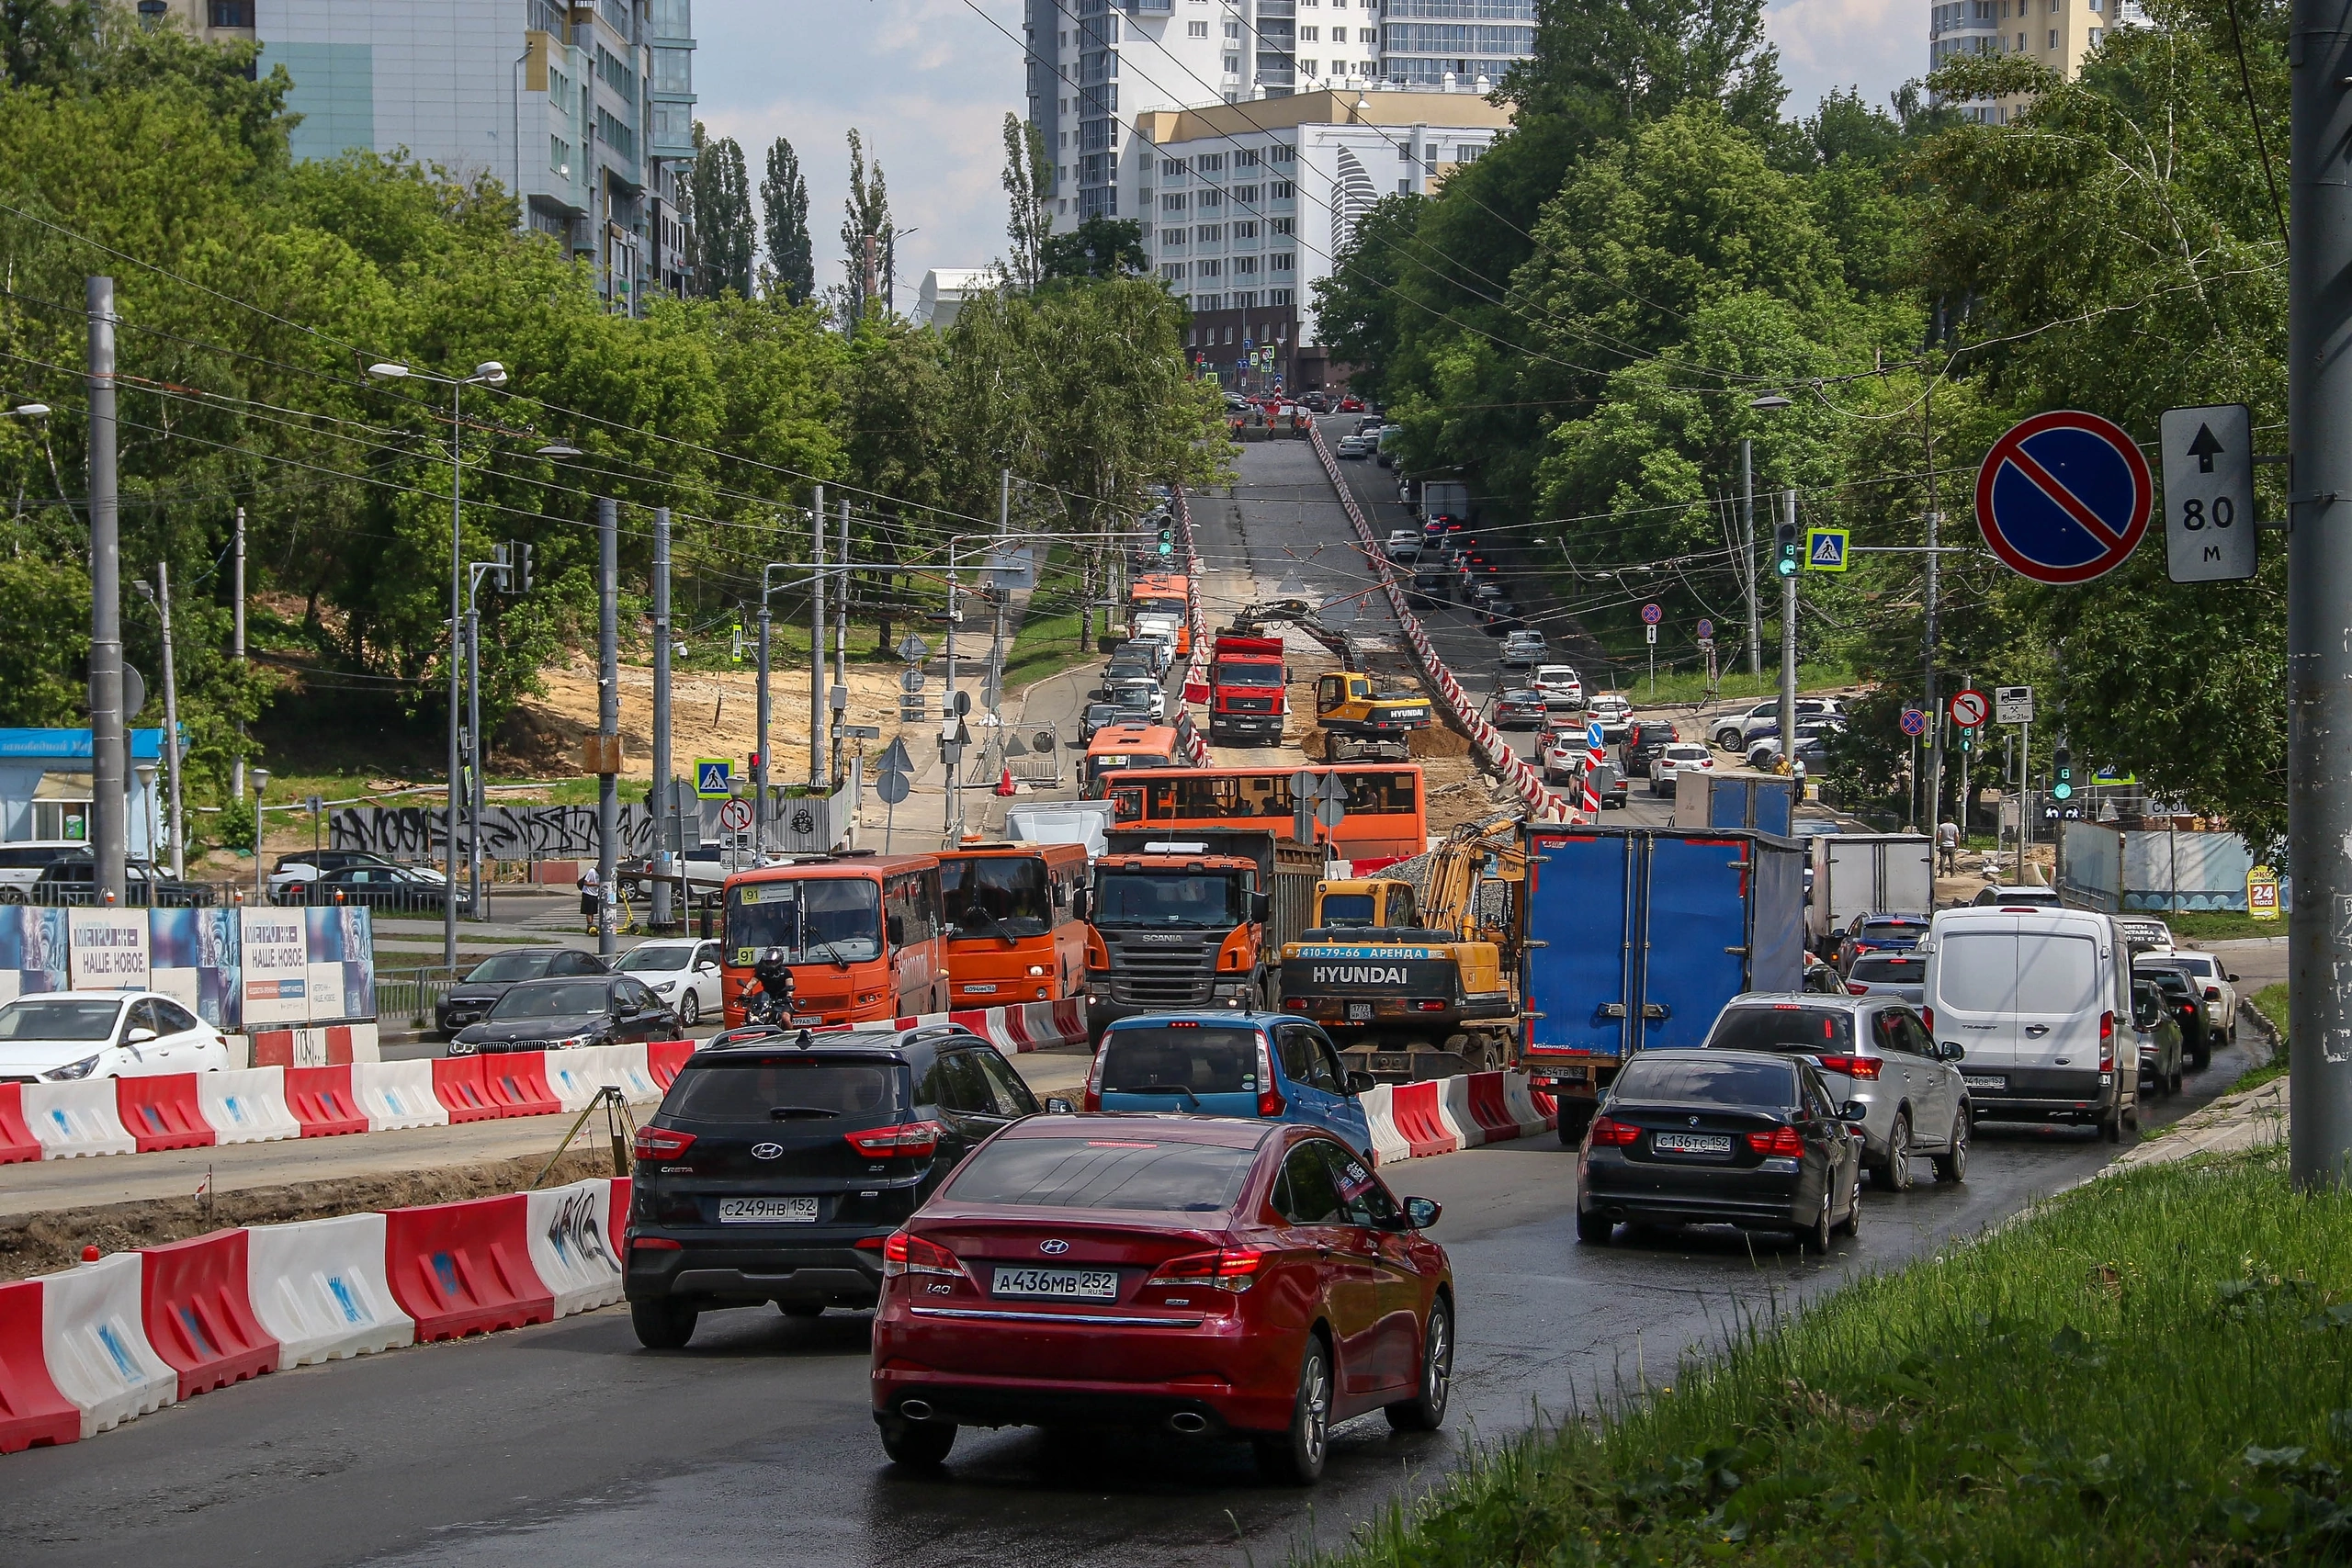
[[(1308, 451), (1251, 447), (1242, 480), (1195, 512), (1211, 609), (1270, 597), (1289, 571), (1308, 588), (1367, 583)], [(1458, 668), (1491, 663), (1475, 628), (1432, 616), (1432, 635)], [(1663, 811), (1635, 797), (1625, 816)], [(2209, 1100), (2244, 1065), (2239, 1048), (2218, 1053), (2159, 1114)], [(1446, 1206), (1435, 1234), (1461, 1293), (1454, 1413), (1425, 1436), (1381, 1418), (1343, 1427), (1312, 1493), (1258, 1483), (1240, 1448), (1073, 1448), (1035, 1432), (967, 1432), (946, 1474), (898, 1474), (868, 1415), (863, 1314), (710, 1314), (689, 1349), (644, 1352), (607, 1309), (275, 1373), (9, 1455), (0, 1509), (12, 1563), (1272, 1563), (1345, 1540), (1477, 1441), (1663, 1382), (1684, 1349), (1931, 1253), (2107, 1157), (2072, 1128), (1983, 1128), (1966, 1185), (1870, 1192), (1860, 1237), (1825, 1260), (1733, 1232), (1578, 1246), (1573, 1157), (1550, 1138), (1397, 1166), (1402, 1192)]]

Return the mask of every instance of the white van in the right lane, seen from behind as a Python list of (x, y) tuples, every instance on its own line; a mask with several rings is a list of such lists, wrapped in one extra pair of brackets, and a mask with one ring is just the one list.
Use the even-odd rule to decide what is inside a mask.
[(2131, 947), (2093, 910), (1936, 910), (1922, 1009), (1959, 1046), (1978, 1117), (2086, 1121), (2107, 1143), (2138, 1119)]

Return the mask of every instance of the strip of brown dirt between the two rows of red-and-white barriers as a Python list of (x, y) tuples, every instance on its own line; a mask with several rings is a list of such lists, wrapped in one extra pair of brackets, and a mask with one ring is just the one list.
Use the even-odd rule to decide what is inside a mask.
[[(292, 1187), (245, 1187), (209, 1197), (141, 1199), (92, 1208), (49, 1208), (0, 1218), (0, 1279), (54, 1274), (82, 1260), (85, 1246), (122, 1253), (136, 1246), (186, 1241), (240, 1225), (325, 1220), (372, 1208), (414, 1208), (522, 1192), (546, 1166), (543, 1154), (440, 1166), (400, 1175), (346, 1175)], [(612, 1175), (609, 1150), (572, 1152), (555, 1161), (543, 1187)]]

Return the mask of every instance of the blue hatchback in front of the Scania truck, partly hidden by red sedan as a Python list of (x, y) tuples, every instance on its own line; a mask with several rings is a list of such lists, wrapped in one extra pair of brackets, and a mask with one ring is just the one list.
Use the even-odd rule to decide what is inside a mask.
[(1087, 1074), (1087, 1110), (1181, 1110), (1249, 1121), (1298, 1121), (1371, 1154), (1350, 1074), (1331, 1039), (1291, 1013), (1136, 1013), (1103, 1030)]

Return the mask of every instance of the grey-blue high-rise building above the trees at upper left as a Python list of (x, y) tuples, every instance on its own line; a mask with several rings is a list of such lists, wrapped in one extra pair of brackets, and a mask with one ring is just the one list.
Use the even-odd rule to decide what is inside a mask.
[(294, 158), (407, 150), (489, 174), (590, 261), (614, 310), (687, 287), (691, 0), (143, 0), (285, 66)]

